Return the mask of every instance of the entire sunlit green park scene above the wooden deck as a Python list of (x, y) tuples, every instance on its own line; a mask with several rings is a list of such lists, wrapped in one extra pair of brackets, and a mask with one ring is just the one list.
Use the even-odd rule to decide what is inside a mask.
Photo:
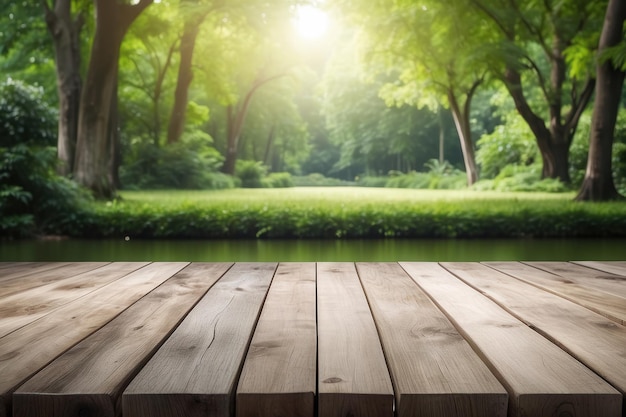
[(3, 260), (79, 256), (67, 237), (626, 248), (619, 1), (3, 3)]

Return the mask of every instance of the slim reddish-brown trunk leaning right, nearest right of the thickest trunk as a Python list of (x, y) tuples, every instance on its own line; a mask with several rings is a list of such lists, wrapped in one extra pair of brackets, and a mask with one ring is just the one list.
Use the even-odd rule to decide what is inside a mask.
[[(190, 3), (190, 0), (183, 1)], [(206, 17), (203, 14), (196, 18), (185, 19), (183, 36), (180, 42), (180, 64), (178, 66), (178, 79), (176, 81), (176, 91), (174, 93), (174, 106), (170, 116), (170, 123), (167, 130), (167, 143), (176, 143), (180, 140), (185, 129), (185, 114), (189, 101), (189, 86), (193, 80), (191, 64), (193, 62), (193, 51), (196, 46), (196, 38), (200, 31), (200, 24)]]

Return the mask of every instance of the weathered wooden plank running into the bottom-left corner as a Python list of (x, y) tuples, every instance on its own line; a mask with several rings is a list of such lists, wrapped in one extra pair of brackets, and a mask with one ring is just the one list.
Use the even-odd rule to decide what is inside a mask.
[[(31, 375), (98, 330), (187, 263), (136, 263), (136, 271), (0, 339), (0, 417)], [(145, 265), (145, 266), (144, 266)]]

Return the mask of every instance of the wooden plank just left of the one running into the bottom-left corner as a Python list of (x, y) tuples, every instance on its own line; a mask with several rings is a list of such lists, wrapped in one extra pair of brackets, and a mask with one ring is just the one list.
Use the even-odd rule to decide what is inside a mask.
[[(76, 276), (56, 279), (3, 298), (0, 304), (0, 338), (64, 304), (122, 278), (139, 266), (141, 265), (134, 262), (116, 262)], [(61, 272), (60, 276), (63, 276), (64, 270), (65, 268), (57, 268), (53, 272)], [(40, 281), (42, 278), (37, 274), (36, 279)]]

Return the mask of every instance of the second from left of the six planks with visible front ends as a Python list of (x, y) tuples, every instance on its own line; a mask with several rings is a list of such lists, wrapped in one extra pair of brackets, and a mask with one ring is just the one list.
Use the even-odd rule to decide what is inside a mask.
[(125, 390), (133, 416), (230, 416), (235, 386), (276, 264), (237, 263)]

